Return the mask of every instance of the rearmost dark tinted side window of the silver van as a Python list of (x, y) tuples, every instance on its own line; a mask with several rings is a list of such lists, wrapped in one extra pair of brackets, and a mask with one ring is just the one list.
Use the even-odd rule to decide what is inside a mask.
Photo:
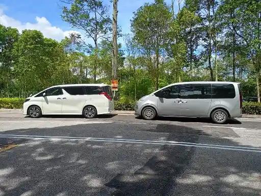
[(236, 97), (236, 92), (232, 84), (212, 84), (212, 99), (232, 99), (234, 97)]

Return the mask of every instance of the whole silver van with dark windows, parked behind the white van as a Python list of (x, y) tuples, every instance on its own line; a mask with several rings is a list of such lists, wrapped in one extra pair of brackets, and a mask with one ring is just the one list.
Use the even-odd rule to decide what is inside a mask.
[(208, 117), (215, 123), (242, 116), (240, 83), (197, 81), (168, 85), (137, 101), (135, 114), (161, 117)]

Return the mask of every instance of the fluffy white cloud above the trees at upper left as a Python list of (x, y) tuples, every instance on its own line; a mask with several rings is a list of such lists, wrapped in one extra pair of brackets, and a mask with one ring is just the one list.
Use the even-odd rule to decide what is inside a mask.
[[(51, 25), (51, 23), (45, 17), (38, 17), (36, 16), (35, 23), (22, 23), (19, 20), (15, 20), (12, 17), (7, 16), (4, 11), (5, 7), (0, 6), (0, 24), (4, 26), (11, 26), (21, 33), (22, 30), (29, 29), (29, 30), (38, 30), (43, 33), (44, 37), (52, 38), (55, 40), (62, 40), (65, 36), (69, 36), (70, 33), (76, 31), (63, 31), (57, 26)], [(77, 32), (79, 33), (79, 32)]]

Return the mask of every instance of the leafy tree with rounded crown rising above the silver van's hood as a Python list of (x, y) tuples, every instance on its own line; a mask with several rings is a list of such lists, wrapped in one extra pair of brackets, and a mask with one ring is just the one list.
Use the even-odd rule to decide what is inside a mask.
[(131, 20), (132, 32), (144, 50), (147, 68), (154, 80), (155, 90), (159, 88), (160, 57), (164, 53), (166, 34), (169, 28), (171, 12), (163, 0), (140, 7)]

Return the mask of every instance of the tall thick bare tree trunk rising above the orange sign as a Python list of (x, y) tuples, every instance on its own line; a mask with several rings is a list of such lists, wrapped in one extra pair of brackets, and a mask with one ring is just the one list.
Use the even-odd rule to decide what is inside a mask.
[(117, 57), (118, 57), (118, 45), (117, 45), (117, 8), (118, 0), (113, 0), (113, 20), (112, 20), (112, 78), (117, 78)]

